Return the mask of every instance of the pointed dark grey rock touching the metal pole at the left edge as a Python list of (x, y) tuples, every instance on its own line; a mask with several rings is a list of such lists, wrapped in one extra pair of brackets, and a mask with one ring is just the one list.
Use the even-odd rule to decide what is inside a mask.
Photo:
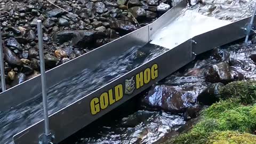
[(22, 61), (7, 47), (3, 47), (4, 60), (7, 61), (10, 65), (21, 66)]

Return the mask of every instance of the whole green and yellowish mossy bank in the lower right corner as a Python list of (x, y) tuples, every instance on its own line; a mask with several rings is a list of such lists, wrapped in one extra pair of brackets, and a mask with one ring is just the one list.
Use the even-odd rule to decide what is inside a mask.
[(203, 110), (193, 129), (164, 143), (256, 143), (256, 81), (231, 82), (222, 87), (219, 97)]

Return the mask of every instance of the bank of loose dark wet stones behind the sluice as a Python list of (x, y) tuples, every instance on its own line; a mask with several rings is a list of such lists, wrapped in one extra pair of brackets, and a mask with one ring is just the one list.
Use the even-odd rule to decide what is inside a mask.
[(49, 70), (154, 21), (171, 0), (1, 0), (7, 89), (39, 74), (36, 20)]

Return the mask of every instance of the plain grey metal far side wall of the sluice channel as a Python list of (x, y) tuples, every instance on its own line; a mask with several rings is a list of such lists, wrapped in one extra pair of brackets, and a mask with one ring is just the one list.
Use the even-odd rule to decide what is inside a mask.
[[(93, 51), (46, 71), (47, 87), (53, 86), (64, 78), (74, 76), (85, 68), (94, 67), (101, 61), (119, 55), (130, 49), (133, 45), (140, 46), (146, 44), (149, 41), (148, 35), (148, 26), (142, 27), (113, 42), (100, 46)], [(91, 61), (93, 61), (93, 63)], [(11, 107), (17, 106), (41, 93), (42, 87), (40, 76), (41, 75), (38, 75), (2, 92), (0, 94), (0, 111), (5, 111)]]

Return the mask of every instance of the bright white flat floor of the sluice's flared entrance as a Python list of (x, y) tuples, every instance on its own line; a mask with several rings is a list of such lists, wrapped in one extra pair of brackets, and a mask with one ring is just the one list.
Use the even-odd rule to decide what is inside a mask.
[(173, 49), (194, 36), (230, 23), (229, 21), (207, 17), (197, 12), (185, 11), (169, 25), (158, 30), (153, 36), (153, 41), (150, 43), (166, 47), (167, 49)]

